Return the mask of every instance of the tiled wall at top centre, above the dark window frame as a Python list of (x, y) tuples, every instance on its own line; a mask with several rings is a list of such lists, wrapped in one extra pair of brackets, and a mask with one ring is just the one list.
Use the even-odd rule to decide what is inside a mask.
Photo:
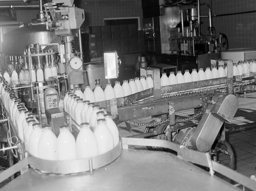
[(141, 0), (80, 0), (77, 6), (85, 11), (85, 25), (104, 25), (104, 18), (140, 17)]

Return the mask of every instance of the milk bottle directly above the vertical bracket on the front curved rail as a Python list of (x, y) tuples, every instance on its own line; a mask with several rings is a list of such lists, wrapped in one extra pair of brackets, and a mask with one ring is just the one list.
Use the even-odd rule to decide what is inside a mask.
[(98, 145), (89, 123), (82, 123), (76, 138), (77, 158), (89, 158), (98, 155)]

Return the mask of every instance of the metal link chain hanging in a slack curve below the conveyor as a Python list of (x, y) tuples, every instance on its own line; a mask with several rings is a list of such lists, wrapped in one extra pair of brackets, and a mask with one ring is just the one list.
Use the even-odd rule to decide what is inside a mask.
[[(190, 117), (187, 117), (187, 118), (184, 118), (184, 119), (175, 119), (175, 122), (181, 123), (181, 122), (191, 121), (191, 120), (194, 120), (196, 117), (199, 117), (202, 114), (203, 114), (203, 112), (197, 112), (194, 115), (191, 115)], [(126, 122), (128, 122), (129, 124), (138, 125), (138, 126), (157, 127), (157, 126), (162, 125), (164, 123), (170, 122), (170, 120), (165, 119), (165, 120), (161, 120), (161, 121), (153, 122), (153, 123), (135, 122), (133, 120), (127, 120)]]

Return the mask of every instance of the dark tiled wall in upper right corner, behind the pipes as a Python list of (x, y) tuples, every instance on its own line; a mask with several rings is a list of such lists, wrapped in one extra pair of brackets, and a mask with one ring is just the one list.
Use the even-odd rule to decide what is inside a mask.
[[(212, 7), (212, 15), (256, 10), (255, 0), (201, 0)], [(202, 13), (205, 8), (202, 8)], [(207, 13), (206, 13), (207, 14)], [(206, 21), (206, 18), (202, 19)], [(225, 33), (230, 48), (256, 48), (256, 13), (212, 18), (216, 33)], [(206, 25), (208, 26), (208, 25)], [(202, 29), (206, 30), (205, 27)]]

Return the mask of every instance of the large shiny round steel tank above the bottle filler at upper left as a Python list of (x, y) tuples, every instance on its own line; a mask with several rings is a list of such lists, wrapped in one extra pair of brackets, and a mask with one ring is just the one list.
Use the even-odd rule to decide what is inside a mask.
[(28, 44), (57, 42), (58, 38), (54, 31), (47, 31), (44, 24), (24, 26), (3, 35), (3, 51), (7, 55), (23, 54)]

